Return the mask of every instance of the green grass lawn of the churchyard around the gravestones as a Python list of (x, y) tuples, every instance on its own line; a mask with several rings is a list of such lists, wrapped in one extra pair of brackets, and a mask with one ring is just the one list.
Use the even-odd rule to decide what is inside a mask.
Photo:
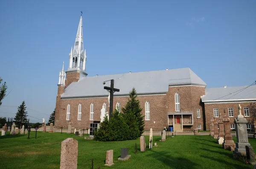
[[(91, 169), (91, 160), (94, 160), (94, 169), (180, 169), (180, 168), (227, 168), (251, 169), (253, 166), (233, 160), (233, 152), (222, 149), (216, 140), (208, 135), (177, 135), (167, 141), (159, 142), (160, 136), (154, 136), (153, 143), (158, 147), (148, 149), (148, 138), (145, 136), (147, 149), (140, 152), (140, 139), (132, 141), (98, 142), (84, 140), (66, 133), (37, 133), (28, 135), (0, 136), (0, 169), (59, 169), (61, 141), (66, 138), (75, 138), (78, 144), (78, 169)], [(236, 138), (234, 141), (236, 141)], [(249, 138), (251, 146), (256, 150), (256, 139)], [(138, 153), (135, 154), (135, 143)], [(154, 145), (154, 144), (153, 144)], [(118, 161), (121, 148), (129, 148), (131, 158), (128, 161)], [(113, 149), (114, 165), (104, 166), (106, 151)]]

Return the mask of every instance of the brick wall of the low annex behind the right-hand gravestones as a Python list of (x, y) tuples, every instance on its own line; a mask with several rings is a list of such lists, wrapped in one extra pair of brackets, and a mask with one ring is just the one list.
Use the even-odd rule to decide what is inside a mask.
[[(233, 108), (233, 113), (234, 116), (233, 117), (229, 117), (230, 118), (230, 124), (234, 124), (234, 120), (236, 118), (237, 115), (239, 115), (239, 111), (238, 111), (238, 105), (241, 105), (241, 114), (244, 115), (244, 107), (250, 107), (250, 102), (241, 102), (241, 103), (232, 103), (232, 102), (228, 102), (228, 103), (213, 103), (213, 104), (204, 104), (204, 108), (205, 108), (205, 118), (206, 118), (206, 130), (209, 130), (209, 125), (210, 125), (210, 120), (212, 118), (213, 114), (213, 109), (214, 108), (218, 108), (218, 112), (219, 114), (221, 114), (221, 118), (224, 117), (224, 114), (229, 116), (228, 113), (228, 108)], [(225, 111), (225, 113), (224, 113)], [(250, 108), (249, 108), (249, 112), (250, 112)], [(251, 120), (251, 114), (250, 117), (245, 117), (247, 119), (247, 121)]]

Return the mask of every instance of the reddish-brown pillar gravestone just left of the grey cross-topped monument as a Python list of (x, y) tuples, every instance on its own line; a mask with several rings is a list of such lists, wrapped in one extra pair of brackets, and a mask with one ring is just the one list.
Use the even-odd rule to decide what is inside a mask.
[(233, 141), (231, 132), (230, 132), (230, 118), (227, 118), (226, 115), (224, 115), (224, 127), (225, 127), (225, 139), (222, 144), (222, 148), (229, 149), (230, 151), (233, 151), (236, 147), (236, 144)]

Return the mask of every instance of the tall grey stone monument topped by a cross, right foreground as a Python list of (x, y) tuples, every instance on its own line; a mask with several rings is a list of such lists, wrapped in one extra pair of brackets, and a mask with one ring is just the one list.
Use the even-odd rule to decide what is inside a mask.
[(250, 146), (248, 143), (248, 135), (247, 135), (247, 120), (241, 115), (241, 106), (239, 104), (239, 115), (235, 118), (234, 123), (236, 126), (236, 148), (233, 151), (233, 158), (240, 159), (241, 155), (246, 155), (245, 146)]

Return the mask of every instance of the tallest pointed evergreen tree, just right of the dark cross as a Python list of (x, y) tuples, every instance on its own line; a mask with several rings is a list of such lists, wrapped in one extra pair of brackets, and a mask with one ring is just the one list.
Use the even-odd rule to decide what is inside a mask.
[[(137, 125), (140, 131), (138, 136), (141, 136), (144, 132), (145, 124), (143, 119), (145, 116), (141, 114), (142, 108), (140, 107), (140, 101), (136, 99), (137, 92), (134, 87), (130, 91), (129, 96), (130, 96), (130, 99), (128, 99), (128, 102), (125, 105), (125, 108), (122, 108), (122, 111), (124, 113), (124, 116), (129, 117), (131, 119), (133, 117), (132, 115), (129, 115), (129, 114), (133, 113), (136, 116)], [(127, 120), (127, 118), (125, 119)], [(131, 125), (131, 121), (128, 125)], [(133, 123), (132, 125), (135, 127), (134, 130), (136, 130), (136, 124)]]

